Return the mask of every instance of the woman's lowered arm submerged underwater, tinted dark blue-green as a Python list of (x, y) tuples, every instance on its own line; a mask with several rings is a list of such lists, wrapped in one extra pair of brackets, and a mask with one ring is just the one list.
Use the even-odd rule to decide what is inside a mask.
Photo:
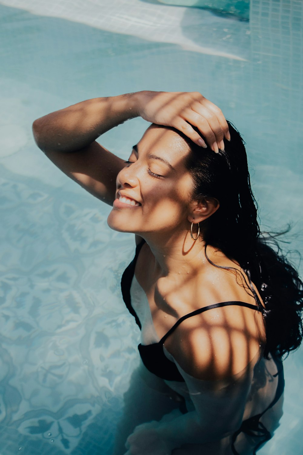
[[(243, 419), (247, 397), (245, 384), (239, 384), (239, 387), (233, 384), (230, 388), (220, 387), (222, 384), (219, 383), (215, 390), (207, 387), (203, 391), (199, 391), (194, 384), (188, 385), (193, 401), (190, 407), (194, 409), (189, 409), (186, 414), (174, 410), (159, 421), (137, 426), (127, 440), (129, 451), (125, 455), (177, 455), (178, 449), (186, 445), (191, 448), (193, 445), (205, 445), (212, 450), (228, 443), (230, 435), (238, 430)], [(207, 453), (221, 452), (214, 450)]]

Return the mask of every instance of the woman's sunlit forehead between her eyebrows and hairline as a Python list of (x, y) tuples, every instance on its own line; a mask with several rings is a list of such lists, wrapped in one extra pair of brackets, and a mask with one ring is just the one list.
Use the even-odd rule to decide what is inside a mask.
[[(179, 134), (165, 126), (152, 124), (138, 143), (139, 152), (165, 154), (170, 160), (180, 160), (189, 153), (189, 145)], [(183, 161), (183, 160), (182, 160)]]

